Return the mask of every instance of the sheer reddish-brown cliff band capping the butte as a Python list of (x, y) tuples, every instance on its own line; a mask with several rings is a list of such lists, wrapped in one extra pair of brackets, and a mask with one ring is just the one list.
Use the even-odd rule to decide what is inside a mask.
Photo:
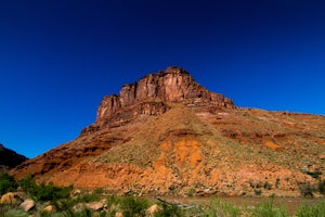
[[(105, 122), (119, 110), (139, 103), (142, 103), (140, 108), (146, 107), (151, 114), (155, 114), (155, 111), (161, 113), (167, 110), (164, 103), (151, 102), (144, 106), (145, 101), (179, 102), (188, 106), (210, 104), (220, 107), (235, 107), (232, 100), (208, 91), (197, 84), (186, 71), (173, 66), (157, 74), (146, 75), (136, 82), (122, 86), (119, 95), (105, 97), (99, 106), (96, 123)], [(140, 113), (143, 112), (140, 111)]]

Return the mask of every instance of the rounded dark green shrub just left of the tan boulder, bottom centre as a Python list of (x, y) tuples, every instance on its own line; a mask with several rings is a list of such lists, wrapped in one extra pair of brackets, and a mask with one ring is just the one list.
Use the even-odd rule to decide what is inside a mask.
[(145, 216), (148, 202), (142, 197), (125, 196), (120, 207), (125, 217)]

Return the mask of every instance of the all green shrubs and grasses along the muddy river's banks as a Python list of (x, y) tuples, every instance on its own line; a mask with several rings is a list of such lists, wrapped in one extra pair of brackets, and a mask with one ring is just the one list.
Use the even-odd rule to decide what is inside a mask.
[[(269, 182), (252, 183), (255, 188), (269, 189), (272, 186)], [(274, 204), (274, 197), (270, 201), (256, 206), (235, 206), (223, 202), (219, 197), (211, 197), (208, 205), (186, 205), (162, 200), (147, 200), (136, 196), (104, 196), (104, 189), (98, 188), (92, 191), (73, 192), (73, 187), (56, 187), (53, 183), (37, 184), (31, 177), (27, 177), (20, 181), (8, 174), (0, 176), (1, 194), (10, 191), (16, 191), (20, 188), (26, 193), (26, 199), (31, 197), (36, 201), (36, 208), (25, 212), (15, 204), (0, 204), (0, 216), (2, 217), (110, 217), (117, 214), (123, 217), (190, 217), (190, 216), (256, 216), (256, 217), (287, 217), (288, 210), (285, 207), (278, 207)], [(311, 183), (302, 183), (300, 186), (302, 195), (313, 195), (316, 190), (324, 193), (325, 181), (318, 182), (318, 186)], [(92, 208), (90, 204), (102, 203), (101, 208)], [(148, 214), (148, 208), (156, 205), (158, 209)], [(48, 212), (43, 208), (51, 205), (52, 210)], [(325, 201), (320, 201), (314, 205), (303, 205), (298, 208), (294, 216), (297, 217), (325, 217)]]

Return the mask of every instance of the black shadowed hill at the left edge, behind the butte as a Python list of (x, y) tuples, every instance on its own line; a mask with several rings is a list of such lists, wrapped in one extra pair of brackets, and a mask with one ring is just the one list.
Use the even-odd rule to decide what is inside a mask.
[(0, 173), (1, 173), (1, 168), (5, 169), (5, 168), (13, 168), (20, 164), (22, 164), (23, 162), (25, 162), (27, 159), (27, 157), (17, 154), (16, 152), (4, 148), (1, 143), (0, 143)]

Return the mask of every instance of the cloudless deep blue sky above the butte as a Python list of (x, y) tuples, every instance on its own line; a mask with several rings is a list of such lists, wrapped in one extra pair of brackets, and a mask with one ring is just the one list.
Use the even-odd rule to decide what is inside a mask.
[(325, 115), (324, 0), (1, 0), (0, 143), (34, 157), (178, 65), (239, 106)]

